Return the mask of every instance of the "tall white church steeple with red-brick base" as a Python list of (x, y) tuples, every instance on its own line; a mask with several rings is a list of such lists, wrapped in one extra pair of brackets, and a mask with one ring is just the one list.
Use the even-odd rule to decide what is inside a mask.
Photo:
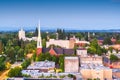
[(41, 41), (41, 32), (40, 32), (40, 20), (38, 24), (38, 38), (37, 38), (37, 54), (42, 53), (42, 41)]

